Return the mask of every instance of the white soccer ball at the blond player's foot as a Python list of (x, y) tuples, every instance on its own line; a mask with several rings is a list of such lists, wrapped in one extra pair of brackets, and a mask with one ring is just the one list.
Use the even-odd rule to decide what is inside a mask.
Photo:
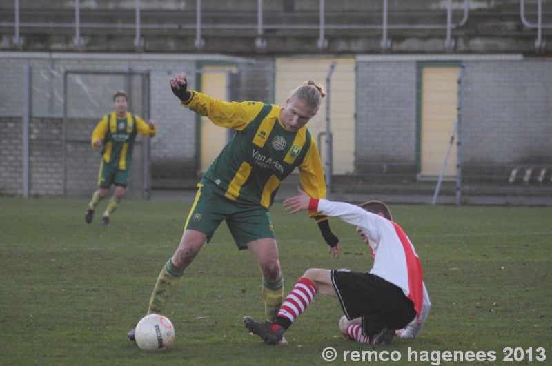
[(166, 316), (146, 315), (136, 325), (135, 340), (144, 351), (168, 351), (175, 340), (175, 327)]

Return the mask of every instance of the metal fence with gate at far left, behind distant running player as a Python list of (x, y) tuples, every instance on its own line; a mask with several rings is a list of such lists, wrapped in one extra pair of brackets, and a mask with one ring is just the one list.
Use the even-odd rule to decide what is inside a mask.
[[(21, 75), (14, 77), (13, 70)], [(101, 161), (90, 136), (101, 116), (112, 110), (115, 90), (127, 90), (130, 110), (148, 118), (147, 73), (24, 65), (0, 72), (0, 80), (6, 94), (0, 108), (0, 194), (89, 196), (97, 187)], [(136, 140), (129, 197), (149, 197), (148, 142)]]

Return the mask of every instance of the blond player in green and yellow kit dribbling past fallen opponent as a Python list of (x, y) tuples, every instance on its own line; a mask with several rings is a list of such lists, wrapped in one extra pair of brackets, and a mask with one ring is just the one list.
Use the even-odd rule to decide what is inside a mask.
[[(245, 101), (228, 103), (187, 90), (184, 74), (170, 81), (181, 105), (236, 134), (205, 172), (186, 220), (184, 234), (157, 278), (148, 314), (160, 313), (179, 287), (186, 267), (210, 241), (221, 221), (226, 221), (239, 250), (248, 249), (262, 273), (265, 315), (273, 321), (284, 298), (284, 279), (268, 209), (283, 179), (296, 167), (304, 190), (326, 196), (326, 184), (315, 140), (306, 123), (317, 114), (322, 86), (308, 81), (291, 92), (282, 108)], [(339, 239), (331, 232), (328, 217), (310, 212), (333, 256), (339, 257)], [(134, 340), (134, 330), (128, 333)]]

